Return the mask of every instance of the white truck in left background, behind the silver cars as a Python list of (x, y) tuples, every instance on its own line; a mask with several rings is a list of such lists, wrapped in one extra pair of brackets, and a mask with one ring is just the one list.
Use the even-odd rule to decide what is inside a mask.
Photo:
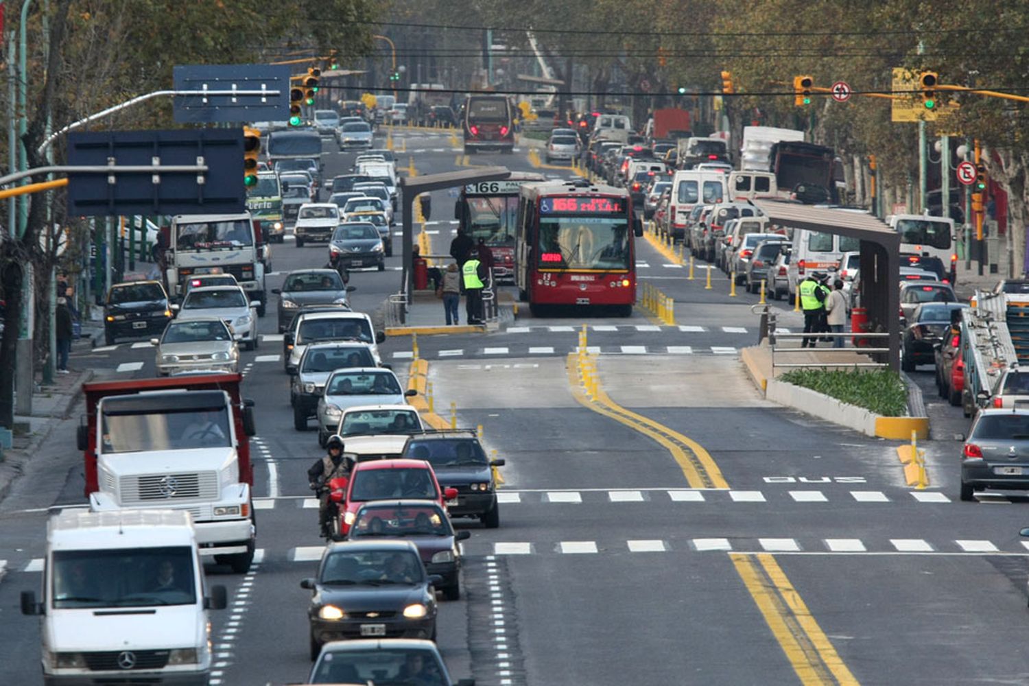
[[(258, 222), (259, 226), (259, 222)], [(172, 218), (168, 237), (167, 283), (173, 297), (185, 295), (185, 283), (199, 274), (230, 274), (257, 302), (264, 316), (264, 245), (249, 212), (190, 214)]]

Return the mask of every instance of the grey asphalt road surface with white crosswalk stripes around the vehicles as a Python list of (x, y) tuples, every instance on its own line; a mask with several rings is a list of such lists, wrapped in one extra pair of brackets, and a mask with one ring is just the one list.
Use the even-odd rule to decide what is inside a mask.
[[(406, 148), (400, 165), (413, 159), (420, 174), (459, 163), (532, 169), (525, 150), (465, 161), (446, 134), (410, 132), (394, 144)], [(326, 151), (326, 178), (351, 158)], [(439, 252), (453, 201), (433, 197), (428, 228), (438, 230)], [(291, 268), (320, 265), (324, 252), (275, 246), (269, 288)], [(644, 243), (637, 258), (640, 279), (674, 297), (675, 326), (640, 311), (526, 313), (496, 333), (419, 340), (436, 407), (455, 402), (459, 425), (482, 424), (487, 447), (507, 461), (500, 528), (458, 520), (471, 530), (464, 593), (441, 604), (438, 629), (452, 673), (490, 686), (1029, 681), (1029, 550), (1018, 536), (1026, 499), (958, 501), (950, 435), (966, 424), (930, 393), (930, 368), (915, 374), (935, 439), (923, 444), (931, 485), (917, 492), (904, 485), (896, 443), (783, 409), (752, 389), (737, 352), (756, 340), (755, 296), (731, 297), (723, 279), (706, 290)], [(355, 309), (374, 310), (397, 289), (399, 257), (387, 265), (353, 275)], [(783, 308), (780, 325), (796, 326)], [(305, 473), (319, 450), (315, 431), (292, 428), (274, 311), (260, 322), (271, 337), (243, 354), (245, 395), (257, 401), (259, 562), (246, 577), (208, 569), (234, 601), (213, 613), (221, 684), (297, 682), (310, 664), (298, 582), (320, 554)], [(725, 488), (695, 488), (639, 425), (582, 402), (567, 355), (583, 323), (612, 405), (709, 455)], [(403, 375), (410, 338), (381, 348)], [(146, 377), (152, 355), (120, 344), (72, 366)], [(0, 683), (40, 683), (36, 621), (17, 613), (17, 593), (39, 584), (42, 508), (83, 500), (80, 457), (69, 447), (76, 424), (57, 430), (0, 504)]]

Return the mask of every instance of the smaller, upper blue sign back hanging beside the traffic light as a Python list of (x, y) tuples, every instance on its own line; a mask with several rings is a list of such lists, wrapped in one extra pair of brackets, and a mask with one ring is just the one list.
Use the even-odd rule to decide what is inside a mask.
[(285, 121), (289, 118), (289, 65), (180, 65), (176, 91), (278, 91), (276, 96), (176, 96), (175, 121)]

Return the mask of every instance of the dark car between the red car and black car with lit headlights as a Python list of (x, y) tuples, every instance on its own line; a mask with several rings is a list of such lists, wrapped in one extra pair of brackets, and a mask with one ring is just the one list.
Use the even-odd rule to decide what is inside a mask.
[(448, 601), (461, 598), (457, 544), (470, 537), (469, 531), (454, 531), (447, 510), (434, 500), (368, 501), (354, 514), (347, 531), (349, 541), (390, 538), (414, 543), (426, 571), (439, 577), (435, 585)]

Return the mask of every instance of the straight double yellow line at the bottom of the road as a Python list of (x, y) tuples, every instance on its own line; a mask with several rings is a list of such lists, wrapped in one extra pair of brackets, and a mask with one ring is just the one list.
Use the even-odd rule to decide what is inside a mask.
[(730, 558), (801, 683), (857, 686), (775, 557), (733, 552)]

